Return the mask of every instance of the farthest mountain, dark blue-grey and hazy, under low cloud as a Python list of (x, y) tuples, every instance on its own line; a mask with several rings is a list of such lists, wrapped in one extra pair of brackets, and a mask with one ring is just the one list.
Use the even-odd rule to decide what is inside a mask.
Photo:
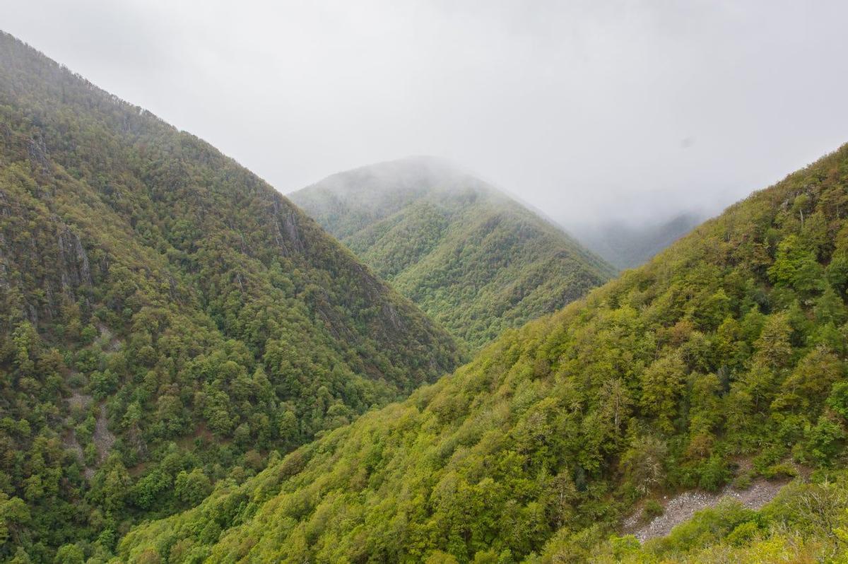
[(586, 247), (624, 270), (644, 265), (701, 221), (704, 221), (703, 214), (684, 212), (661, 221), (609, 221), (569, 227)]

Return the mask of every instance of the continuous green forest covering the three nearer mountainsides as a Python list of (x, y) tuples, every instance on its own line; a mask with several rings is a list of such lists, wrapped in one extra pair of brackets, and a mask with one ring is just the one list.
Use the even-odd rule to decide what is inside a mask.
[(0, 33), (0, 561), (848, 562), (848, 145), (610, 282), (427, 159), (321, 186)]

